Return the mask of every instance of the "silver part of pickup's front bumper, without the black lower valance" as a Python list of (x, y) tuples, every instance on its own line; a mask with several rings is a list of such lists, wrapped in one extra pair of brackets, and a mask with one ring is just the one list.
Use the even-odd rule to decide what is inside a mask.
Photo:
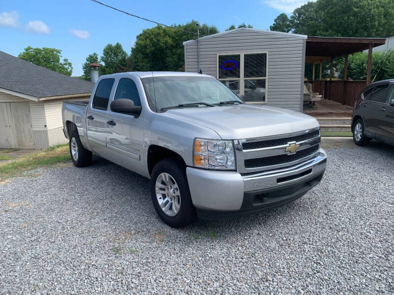
[(327, 155), (320, 148), (317, 157), (301, 164), (241, 175), (236, 171), (217, 171), (187, 167), (190, 194), (197, 209), (216, 211), (239, 210), (244, 195), (265, 189), (281, 190), (324, 173)]

